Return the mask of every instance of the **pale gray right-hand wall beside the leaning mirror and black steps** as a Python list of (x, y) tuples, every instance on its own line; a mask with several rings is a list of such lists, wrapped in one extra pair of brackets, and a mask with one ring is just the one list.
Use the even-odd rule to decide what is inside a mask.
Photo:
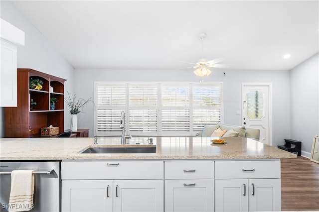
[(302, 150), (310, 153), (319, 134), (319, 53), (292, 69), (290, 82), (290, 138), (302, 141)]

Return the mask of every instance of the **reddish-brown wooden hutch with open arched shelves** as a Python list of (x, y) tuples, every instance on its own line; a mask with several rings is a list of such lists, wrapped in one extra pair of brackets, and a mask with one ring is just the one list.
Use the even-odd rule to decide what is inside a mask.
[[(31, 78), (43, 82), (40, 91), (29, 88)], [(17, 107), (4, 108), (4, 137), (40, 137), (41, 128), (49, 125), (58, 126), (62, 133), (65, 81), (32, 69), (17, 69)], [(50, 110), (50, 98), (58, 100), (54, 110)], [(36, 102), (33, 108), (31, 100)]]

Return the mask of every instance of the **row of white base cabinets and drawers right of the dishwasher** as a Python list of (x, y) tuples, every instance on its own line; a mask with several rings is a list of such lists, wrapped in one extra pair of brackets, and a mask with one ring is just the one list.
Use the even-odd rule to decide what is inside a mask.
[(62, 212), (281, 211), (280, 160), (62, 161), (61, 178)]

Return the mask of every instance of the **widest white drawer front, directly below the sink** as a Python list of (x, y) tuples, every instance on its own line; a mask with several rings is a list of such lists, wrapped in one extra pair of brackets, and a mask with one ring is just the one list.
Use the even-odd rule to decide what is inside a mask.
[(62, 180), (163, 179), (162, 161), (62, 161)]

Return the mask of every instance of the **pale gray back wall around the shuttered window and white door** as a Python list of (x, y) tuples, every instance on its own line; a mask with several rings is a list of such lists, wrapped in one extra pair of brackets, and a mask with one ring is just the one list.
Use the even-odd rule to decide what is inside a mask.
[[(223, 75), (225, 71), (226, 75)], [(224, 83), (224, 114), (223, 122), (242, 125), (241, 115), (241, 84), (272, 83), (273, 85), (273, 145), (284, 143), (290, 137), (290, 79), (289, 71), (245, 71), (215, 70), (205, 78), (197, 77), (191, 70), (75, 70), (74, 92), (77, 96), (94, 99), (94, 82), (205, 82)], [(85, 113), (78, 114), (78, 128), (89, 128), (90, 136), (94, 135), (94, 106), (84, 108)]]

